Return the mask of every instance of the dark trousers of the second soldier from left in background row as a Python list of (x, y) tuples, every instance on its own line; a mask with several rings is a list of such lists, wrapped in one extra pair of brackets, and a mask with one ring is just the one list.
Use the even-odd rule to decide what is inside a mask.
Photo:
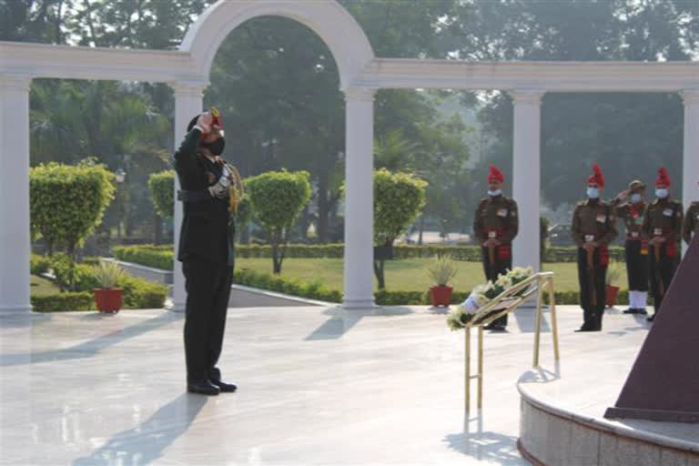
[(587, 251), (578, 248), (578, 282), (580, 283), (580, 304), (582, 307), (582, 329), (602, 329), (602, 316), (606, 303), (604, 277), (607, 264), (600, 260), (600, 248), (593, 253), (593, 268), (587, 264)]

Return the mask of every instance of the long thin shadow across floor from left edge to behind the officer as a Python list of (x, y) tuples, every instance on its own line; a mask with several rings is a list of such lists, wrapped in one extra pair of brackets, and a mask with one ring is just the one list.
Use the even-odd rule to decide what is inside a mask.
[[(0, 366), (16, 366), (20, 364), (38, 364), (41, 362), (54, 362), (56, 360), (75, 360), (91, 358), (97, 353), (112, 345), (116, 345), (127, 339), (133, 339), (148, 331), (159, 329), (177, 320), (184, 319), (182, 312), (163, 312), (153, 319), (134, 324), (126, 329), (118, 329), (106, 335), (89, 339), (76, 346), (65, 349), (52, 349), (30, 353), (11, 353), (0, 355)], [(117, 316), (102, 317), (99, 314), (86, 314), (81, 319), (115, 319)]]

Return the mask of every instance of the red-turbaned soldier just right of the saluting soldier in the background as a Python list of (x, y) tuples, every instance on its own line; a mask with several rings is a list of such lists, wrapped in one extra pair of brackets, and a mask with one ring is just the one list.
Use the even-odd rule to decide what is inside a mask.
[(661, 167), (655, 178), (655, 200), (645, 209), (643, 232), (648, 240), (651, 291), (655, 313), (647, 320), (653, 322), (658, 314), (665, 291), (673, 280), (677, 264), (678, 242), (682, 233), (682, 203), (670, 198), (670, 177)]

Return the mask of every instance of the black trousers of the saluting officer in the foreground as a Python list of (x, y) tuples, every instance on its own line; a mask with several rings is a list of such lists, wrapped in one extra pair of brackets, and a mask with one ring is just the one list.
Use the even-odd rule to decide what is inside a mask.
[(203, 258), (182, 261), (187, 290), (185, 359), (187, 381), (219, 379), (216, 369), (226, 328), (233, 268)]

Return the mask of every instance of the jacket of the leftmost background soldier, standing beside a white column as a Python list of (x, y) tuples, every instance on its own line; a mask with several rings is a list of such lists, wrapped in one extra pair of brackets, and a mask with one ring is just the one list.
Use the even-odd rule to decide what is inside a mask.
[(503, 244), (517, 236), (519, 218), (517, 202), (505, 196), (489, 196), (478, 203), (473, 218), (473, 233), (481, 243), (495, 238)]

